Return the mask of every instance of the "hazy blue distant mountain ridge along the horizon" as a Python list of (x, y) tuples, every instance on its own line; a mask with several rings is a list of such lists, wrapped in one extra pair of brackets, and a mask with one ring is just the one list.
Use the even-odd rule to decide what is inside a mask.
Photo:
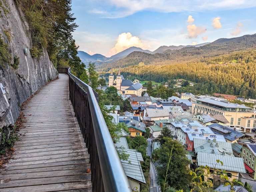
[(139, 52), (145, 52), (145, 53), (163, 53), (166, 50), (177, 50), (177, 49), (181, 49), (184, 47), (200, 47), (200, 46), (204, 46), (207, 45), (208, 43), (203, 43), (203, 44), (198, 44), (198, 45), (187, 45), (187, 46), (161, 46), (159, 48), (157, 48), (154, 51), (150, 51), (150, 50), (144, 50), (142, 48), (138, 48), (138, 47), (130, 47), (127, 48), (115, 55), (112, 55), (111, 57), (105, 57), (102, 54), (93, 54), (90, 55), (84, 51), (77, 51), (78, 52), (78, 56), (80, 57), (81, 61), (85, 64), (88, 64), (89, 62), (94, 62), (96, 65), (100, 65), (103, 63), (111, 63), (111, 62), (115, 62), (119, 59), (122, 59), (124, 57), (126, 57), (127, 55), (129, 55), (130, 53), (134, 52), (134, 51), (139, 51)]

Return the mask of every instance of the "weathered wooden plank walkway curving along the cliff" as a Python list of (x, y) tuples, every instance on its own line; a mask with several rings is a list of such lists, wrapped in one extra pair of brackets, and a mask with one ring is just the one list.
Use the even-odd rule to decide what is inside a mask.
[(91, 191), (89, 154), (69, 101), (68, 75), (42, 87), (23, 113), (26, 128), (0, 172), (1, 180), (11, 180), (0, 191)]

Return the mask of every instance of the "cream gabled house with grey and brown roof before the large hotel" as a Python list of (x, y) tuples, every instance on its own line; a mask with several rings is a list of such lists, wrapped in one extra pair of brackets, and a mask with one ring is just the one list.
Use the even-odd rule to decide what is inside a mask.
[(204, 126), (209, 126), (211, 124), (217, 123), (220, 125), (225, 125), (228, 122), (228, 120), (223, 115), (217, 115), (217, 114), (196, 114), (195, 118), (198, 119), (199, 122), (201, 122)]

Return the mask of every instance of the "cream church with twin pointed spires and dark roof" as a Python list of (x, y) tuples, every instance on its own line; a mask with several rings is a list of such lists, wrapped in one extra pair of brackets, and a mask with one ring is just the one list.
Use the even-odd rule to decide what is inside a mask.
[(120, 72), (120, 66), (118, 69), (118, 75), (116, 76), (116, 79), (114, 78), (114, 75), (113, 75), (113, 68), (111, 68), (111, 73), (108, 79), (109, 79), (108, 85), (116, 87), (116, 89), (119, 90), (121, 94), (125, 94), (125, 95), (133, 94), (133, 95), (141, 96), (142, 84), (141, 83), (133, 84), (131, 80), (124, 79), (123, 75), (121, 75), (121, 72)]

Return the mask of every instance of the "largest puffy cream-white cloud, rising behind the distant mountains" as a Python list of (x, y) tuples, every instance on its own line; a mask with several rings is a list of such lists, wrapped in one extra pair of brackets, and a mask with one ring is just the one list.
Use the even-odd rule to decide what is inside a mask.
[(131, 33), (122, 33), (118, 36), (115, 47), (109, 50), (108, 55), (114, 55), (133, 46), (142, 49), (149, 48), (148, 46), (144, 45), (138, 37), (132, 36)]

